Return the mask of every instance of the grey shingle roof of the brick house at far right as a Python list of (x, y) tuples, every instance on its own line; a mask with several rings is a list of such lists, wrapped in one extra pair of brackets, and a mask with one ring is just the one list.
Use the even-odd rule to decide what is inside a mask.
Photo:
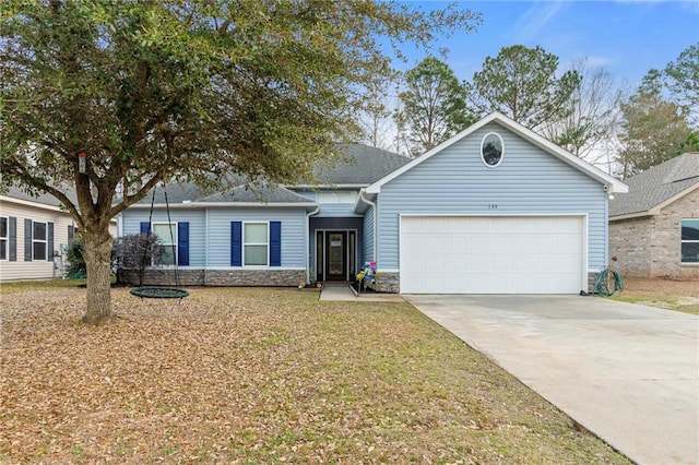
[(629, 192), (609, 202), (609, 219), (656, 215), (660, 210), (699, 189), (699, 153), (686, 153), (625, 182)]

